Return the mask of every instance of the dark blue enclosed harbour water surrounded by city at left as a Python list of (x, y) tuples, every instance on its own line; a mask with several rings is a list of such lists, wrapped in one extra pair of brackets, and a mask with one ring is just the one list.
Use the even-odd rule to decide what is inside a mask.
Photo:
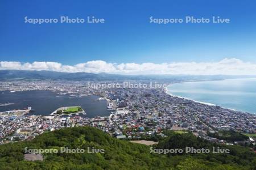
[(111, 111), (107, 109), (106, 100), (97, 100), (99, 96), (72, 97), (69, 95), (58, 95), (52, 91), (0, 91), (0, 103), (14, 103), (0, 106), (0, 112), (13, 109), (24, 109), (31, 107), (34, 111), (29, 114), (49, 115), (57, 108), (80, 105), (86, 112), (82, 117), (109, 116)]

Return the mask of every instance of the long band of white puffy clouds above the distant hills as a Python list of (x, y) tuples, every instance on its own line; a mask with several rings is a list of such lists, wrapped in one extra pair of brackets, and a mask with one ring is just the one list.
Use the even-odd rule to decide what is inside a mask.
[(237, 58), (225, 58), (218, 62), (172, 62), (172, 63), (107, 63), (96, 60), (77, 65), (58, 62), (22, 63), (1, 61), (0, 70), (48, 70), (68, 73), (112, 74), (189, 74), (189, 75), (256, 75), (256, 64)]

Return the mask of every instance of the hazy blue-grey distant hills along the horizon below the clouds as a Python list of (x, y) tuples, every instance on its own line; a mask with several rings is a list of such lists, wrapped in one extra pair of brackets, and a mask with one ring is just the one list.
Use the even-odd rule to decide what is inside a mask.
[(0, 70), (0, 80), (220, 80), (228, 78), (251, 78), (250, 75), (119, 75), (106, 73), (62, 73), (56, 71)]

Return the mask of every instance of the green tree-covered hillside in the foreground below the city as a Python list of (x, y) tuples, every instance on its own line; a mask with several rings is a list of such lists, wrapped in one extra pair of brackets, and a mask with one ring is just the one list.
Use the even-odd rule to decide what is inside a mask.
[[(191, 133), (167, 132), (154, 148), (212, 147)], [(104, 153), (50, 153), (43, 161), (24, 160), (24, 148), (103, 149)], [(0, 146), (0, 169), (255, 169), (255, 153), (247, 147), (225, 146), (230, 154), (154, 154), (151, 146), (121, 141), (90, 127), (65, 128), (32, 141)]]

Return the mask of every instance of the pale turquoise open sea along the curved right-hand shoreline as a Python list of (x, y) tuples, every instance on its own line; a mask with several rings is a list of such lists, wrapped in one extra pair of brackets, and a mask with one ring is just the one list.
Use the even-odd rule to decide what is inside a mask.
[(256, 79), (175, 83), (167, 87), (167, 93), (256, 114)]

